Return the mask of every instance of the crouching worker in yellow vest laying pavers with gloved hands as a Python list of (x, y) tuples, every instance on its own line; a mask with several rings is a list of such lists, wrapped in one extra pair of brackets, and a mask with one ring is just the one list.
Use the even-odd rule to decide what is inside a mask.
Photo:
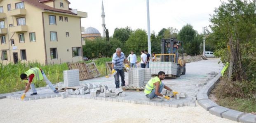
[[(144, 93), (146, 94), (146, 97), (149, 98), (150, 100), (162, 101), (164, 98), (166, 98), (167, 100), (170, 99), (169, 96), (165, 96), (161, 94), (163, 88), (169, 91), (173, 91), (172, 89), (164, 85), (164, 83), (162, 82), (162, 80), (164, 80), (164, 77), (165, 77), (164, 75), (165, 75), (164, 71), (160, 71), (158, 72), (157, 77), (150, 79), (146, 84)], [(172, 92), (172, 93), (177, 94), (178, 92)], [(158, 98), (157, 96), (161, 98)]]

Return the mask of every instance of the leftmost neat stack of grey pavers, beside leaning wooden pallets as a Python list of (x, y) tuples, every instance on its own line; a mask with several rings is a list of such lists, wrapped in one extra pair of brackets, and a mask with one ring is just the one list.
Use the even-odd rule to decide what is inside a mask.
[(74, 87), (79, 85), (79, 70), (63, 71), (64, 87)]

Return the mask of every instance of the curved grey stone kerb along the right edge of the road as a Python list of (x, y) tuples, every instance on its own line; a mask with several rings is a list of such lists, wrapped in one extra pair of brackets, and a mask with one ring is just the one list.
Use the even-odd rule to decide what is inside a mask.
[[(211, 72), (210, 75), (215, 75), (215, 73)], [(197, 93), (198, 104), (201, 105), (207, 111), (209, 111), (211, 114), (214, 114), (222, 118), (227, 118), (232, 121), (242, 123), (256, 123), (256, 115), (228, 109), (226, 107), (219, 106), (216, 103), (209, 100), (208, 95), (214, 88), (215, 84), (218, 82), (218, 79), (220, 77), (221, 73), (218, 73), (218, 75), (216, 75), (214, 79), (209, 81), (208, 84)]]

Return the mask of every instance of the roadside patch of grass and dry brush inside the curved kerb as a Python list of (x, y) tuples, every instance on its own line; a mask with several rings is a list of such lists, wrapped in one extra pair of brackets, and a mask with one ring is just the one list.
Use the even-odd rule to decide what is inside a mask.
[[(256, 112), (256, 95), (243, 93), (243, 96), (233, 93), (240, 93), (242, 86), (232, 86), (234, 82), (228, 82), (227, 78), (222, 78), (216, 87), (211, 91), (216, 98), (213, 101), (218, 105), (234, 109), (240, 112), (255, 113)], [(248, 88), (248, 87), (247, 87)]]

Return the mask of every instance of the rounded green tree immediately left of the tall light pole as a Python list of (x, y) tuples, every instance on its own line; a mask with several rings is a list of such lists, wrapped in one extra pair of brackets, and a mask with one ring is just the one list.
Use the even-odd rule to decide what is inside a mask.
[(128, 54), (133, 50), (136, 55), (140, 54), (140, 50), (148, 49), (148, 38), (145, 30), (137, 29), (131, 34), (125, 43), (125, 53)]

